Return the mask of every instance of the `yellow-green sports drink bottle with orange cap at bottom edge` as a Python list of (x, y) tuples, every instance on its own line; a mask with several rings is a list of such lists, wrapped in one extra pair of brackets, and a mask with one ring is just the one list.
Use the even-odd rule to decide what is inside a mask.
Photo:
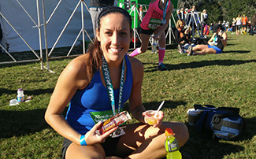
[(182, 159), (179, 151), (180, 147), (176, 138), (174, 137), (173, 130), (171, 128), (166, 128), (165, 136), (165, 150), (167, 152), (166, 159)]

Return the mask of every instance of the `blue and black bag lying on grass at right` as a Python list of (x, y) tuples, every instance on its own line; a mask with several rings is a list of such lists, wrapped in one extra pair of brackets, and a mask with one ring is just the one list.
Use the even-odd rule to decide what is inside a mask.
[(239, 115), (239, 108), (218, 107), (213, 105), (194, 105), (195, 110), (201, 110), (195, 128), (198, 131), (213, 134), (213, 138), (234, 139), (245, 128), (243, 117)]

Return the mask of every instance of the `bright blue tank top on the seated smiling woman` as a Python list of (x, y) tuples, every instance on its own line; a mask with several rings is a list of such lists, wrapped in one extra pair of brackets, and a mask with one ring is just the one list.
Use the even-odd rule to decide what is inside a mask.
[[(127, 71), (126, 80), (124, 81), (121, 108), (123, 108), (124, 103), (127, 102), (130, 97), (133, 83), (132, 67), (127, 55), (125, 55), (125, 61)], [(114, 90), (114, 98), (115, 109), (118, 109), (119, 88)], [(100, 72), (97, 71), (92, 77), (89, 85), (83, 90), (76, 91), (76, 94), (72, 97), (65, 119), (72, 128), (80, 132), (80, 134), (85, 134), (95, 125), (90, 113), (106, 110), (112, 110), (111, 103), (109, 102), (107, 89), (102, 83)]]

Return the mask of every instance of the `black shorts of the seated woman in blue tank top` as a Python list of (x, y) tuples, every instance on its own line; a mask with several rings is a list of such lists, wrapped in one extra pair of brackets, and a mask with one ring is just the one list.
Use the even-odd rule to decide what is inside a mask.
[[(115, 151), (117, 149), (117, 143), (119, 141), (119, 137), (118, 138), (106, 138), (106, 141), (104, 143), (102, 143), (102, 147), (105, 150), (106, 153), (106, 157), (109, 156), (117, 156), (115, 154)], [(72, 143), (72, 141), (70, 141), (69, 139), (65, 139), (63, 140), (63, 146), (61, 149), (61, 155), (62, 155), (62, 159), (65, 159), (65, 153), (68, 150), (69, 145)]]

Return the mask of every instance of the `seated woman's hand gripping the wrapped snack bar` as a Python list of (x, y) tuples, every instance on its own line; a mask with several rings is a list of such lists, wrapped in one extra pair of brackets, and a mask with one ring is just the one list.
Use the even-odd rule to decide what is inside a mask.
[(112, 128), (109, 131), (106, 131), (103, 135), (98, 135), (96, 131), (98, 128), (100, 128), (100, 125), (102, 124), (101, 121), (99, 121), (93, 128), (91, 128), (90, 131), (87, 131), (85, 134), (85, 141), (87, 142), (87, 145), (95, 145), (96, 143), (102, 143), (105, 142), (106, 138), (109, 137), (110, 134), (113, 133), (113, 131), (117, 130), (116, 128)]

